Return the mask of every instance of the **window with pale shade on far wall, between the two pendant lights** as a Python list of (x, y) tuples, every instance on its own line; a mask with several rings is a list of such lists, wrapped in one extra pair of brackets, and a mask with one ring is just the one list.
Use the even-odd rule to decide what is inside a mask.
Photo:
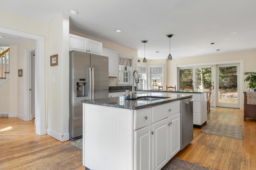
[(149, 89), (158, 90), (164, 84), (164, 66), (149, 66)]

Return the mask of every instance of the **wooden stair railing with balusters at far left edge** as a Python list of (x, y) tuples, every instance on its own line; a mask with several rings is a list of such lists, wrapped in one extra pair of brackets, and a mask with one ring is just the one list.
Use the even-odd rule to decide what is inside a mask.
[[(0, 79), (6, 78), (6, 73), (10, 73), (10, 48), (0, 54)], [(4, 62), (3, 62), (4, 61)]]

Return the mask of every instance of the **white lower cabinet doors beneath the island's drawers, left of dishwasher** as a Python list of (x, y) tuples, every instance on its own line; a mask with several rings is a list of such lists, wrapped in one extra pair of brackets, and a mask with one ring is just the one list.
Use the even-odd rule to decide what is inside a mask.
[(160, 170), (180, 151), (180, 113), (134, 132), (135, 169)]

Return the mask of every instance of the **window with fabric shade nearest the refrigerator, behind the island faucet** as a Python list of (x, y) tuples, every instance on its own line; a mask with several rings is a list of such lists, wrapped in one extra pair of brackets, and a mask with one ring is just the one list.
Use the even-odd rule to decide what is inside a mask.
[(132, 59), (119, 57), (118, 69), (118, 84), (131, 84)]

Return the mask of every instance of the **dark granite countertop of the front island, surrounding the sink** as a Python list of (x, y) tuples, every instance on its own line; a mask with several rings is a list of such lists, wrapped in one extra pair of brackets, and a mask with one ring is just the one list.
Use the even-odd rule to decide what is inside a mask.
[(127, 100), (124, 96), (120, 97), (112, 97), (112, 98), (101, 98), (101, 99), (93, 99), (93, 100), (82, 100), (84, 104), (94, 104), (100, 106), (109, 106), (109, 107), (118, 107), (124, 109), (144, 109), (147, 107), (157, 106), (161, 104), (166, 104), (170, 102), (174, 102), (177, 100), (191, 98), (190, 94), (174, 94), (174, 93), (158, 93), (158, 92), (150, 92), (145, 94), (138, 94), (138, 97), (142, 96), (158, 96), (158, 97), (168, 97), (165, 99), (155, 100), (155, 101), (140, 101), (140, 100)]

